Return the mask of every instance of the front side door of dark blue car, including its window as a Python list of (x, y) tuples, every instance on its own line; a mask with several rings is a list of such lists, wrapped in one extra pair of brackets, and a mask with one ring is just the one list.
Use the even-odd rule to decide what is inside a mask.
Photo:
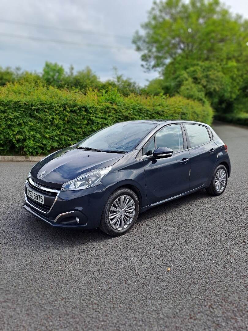
[[(167, 158), (149, 158), (155, 148), (168, 147)], [(174, 197), (189, 190), (189, 152), (181, 124), (160, 129), (143, 148), (147, 205)], [(148, 156), (148, 157), (147, 157)]]

